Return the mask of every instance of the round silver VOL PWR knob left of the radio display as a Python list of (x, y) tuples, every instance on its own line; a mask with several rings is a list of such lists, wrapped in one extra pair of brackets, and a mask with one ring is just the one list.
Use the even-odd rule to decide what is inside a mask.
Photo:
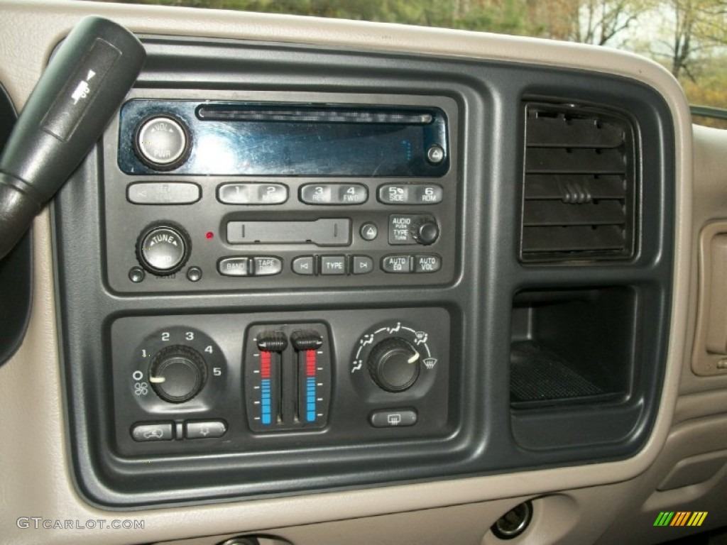
[(189, 133), (175, 118), (154, 116), (137, 130), (134, 150), (152, 169), (171, 170), (183, 163), (189, 154)]

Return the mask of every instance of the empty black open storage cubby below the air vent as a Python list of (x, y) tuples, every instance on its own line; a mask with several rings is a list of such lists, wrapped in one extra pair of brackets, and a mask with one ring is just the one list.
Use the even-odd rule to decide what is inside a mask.
[(629, 394), (636, 353), (632, 288), (520, 291), (511, 331), (513, 408), (614, 402)]

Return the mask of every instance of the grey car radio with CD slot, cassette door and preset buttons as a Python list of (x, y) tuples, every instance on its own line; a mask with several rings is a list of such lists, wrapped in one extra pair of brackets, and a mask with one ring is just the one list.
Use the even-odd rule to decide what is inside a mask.
[(105, 144), (115, 291), (454, 278), (454, 100), (146, 93)]

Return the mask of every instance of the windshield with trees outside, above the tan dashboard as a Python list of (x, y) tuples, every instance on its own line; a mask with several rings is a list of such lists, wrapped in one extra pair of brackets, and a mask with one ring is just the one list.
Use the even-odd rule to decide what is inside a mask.
[(645, 55), (678, 78), (695, 121), (727, 127), (724, 0), (122, 0), (536, 36)]

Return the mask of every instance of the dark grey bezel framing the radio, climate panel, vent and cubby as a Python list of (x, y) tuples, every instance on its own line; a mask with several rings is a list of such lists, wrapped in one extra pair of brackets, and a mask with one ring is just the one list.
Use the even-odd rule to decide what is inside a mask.
[[(274, 278), (253, 278), (266, 283), (224, 290), (188, 289), (189, 283), (149, 292), (121, 288), (120, 282), (128, 283), (126, 266), (132, 263), (133, 249), (120, 249), (126, 252), (126, 265), (110, 270), (117, 265), (106, 259), (111, 243), (106, 203), (110, 191), (116, 192), (107, 174), (112, 168), (106, 149), (115, 138), (112, 128), (60, 191), (52, 209), (73, 471), (89, 501), (112, 508), (148, 506), (466, 477), (624, 459), (646, 444), (666, 361), (675, 222), (675, 140), (670, 110), (658, 92), (606, 73), (520, 63), (154, 36), (145, 37), (144, 43), (148, 61), (135, 93), (380, 94), (387, 100), (414, 95), (423, 102), (446, 97), (457, 111), (458, 145), (451, 158), (457, 165), (457, 198), (443, 201), (449, 207), (448, 240), (455, 259), (438, 277), (441, 281), (424, 286), (402, 281), (362, 288), (353, 280), (306, 280), (291, 286), (276, 284)], [(633, 120), (640, 142), (635, 257), (607, 264), (518, 262), (525, 98), (601, 105)], [(124, 190), (113, 198), (126, 202)], [(110, 282), (112, 277), (116, 279)], [(515, 294), (619, 286), (633, 297), (633, 304), (626, 305), (634, 314), (627, 392), (603, 403), (511, 408)], [(116, 354), (123, 347), (112, 348), (113, 327), (120, 319), (163, 316), (184, 324), (205, 316), (244, 316), (257, 322), (274, 315), (287, 323), (286, 316), (303, 312), (318, 323), (337, 313), (360, 311), (371, 313), (377, 323), (429, 308), (449, 319), (446, 424), (434, 434), (417, 436), (414, 426), (406, 431), (409, 435), (386, 440), (361, 436), (320, 445), (318, 432), (313, 432), (306, 436), (311, 439), (268, 448), (270, 466), (260, 468), (252, 482), (246, 480), (244, 451), (136, 455), (115, 439), (119, 400), (114, 361), (126, 357)], [(363, 332), (348, 332), (342, 346)], [(335, 374), (342, 376), (346, 363), (335, 365)], [(335, 402), (331, 418), (336, 418)], [(542, 440), (542, 430), (553, 432)]]

